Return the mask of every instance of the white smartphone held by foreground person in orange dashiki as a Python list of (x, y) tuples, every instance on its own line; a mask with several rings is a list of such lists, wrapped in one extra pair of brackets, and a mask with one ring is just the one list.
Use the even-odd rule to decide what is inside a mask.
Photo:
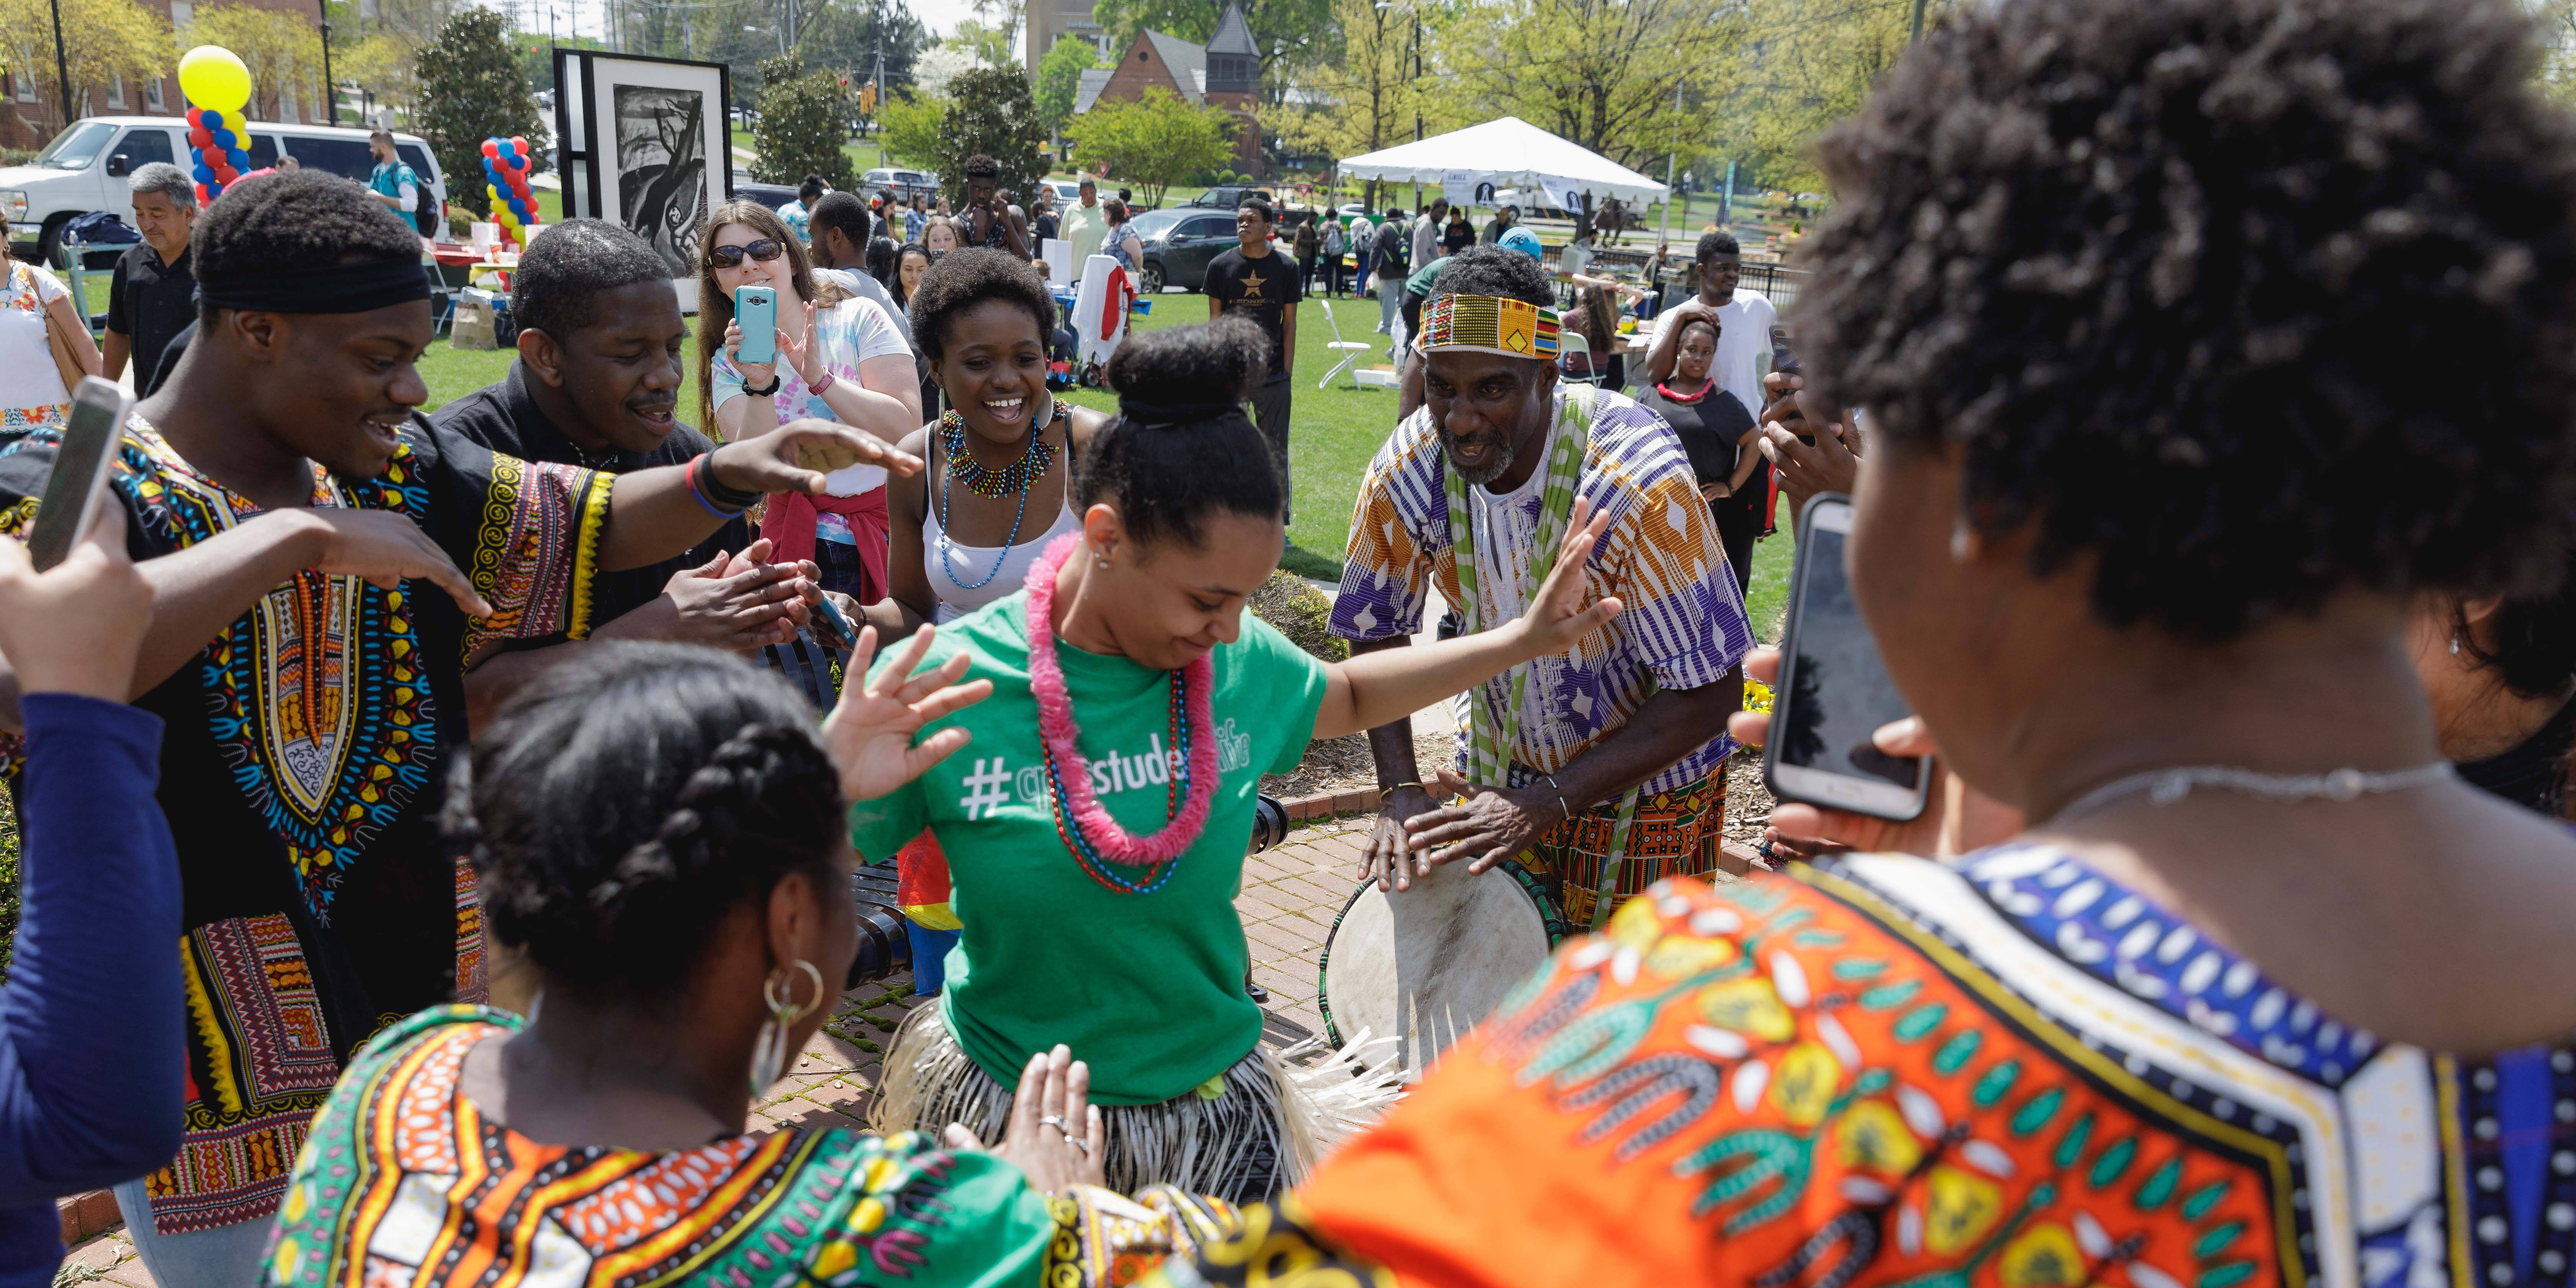
[(1911, 711), (1852, 603), (1850, 533), (1852, 502), (1842, 495), (1808, 500), (1798, 518), (1762, 775), (1783, 801), (1904, 822), (1924, 811), (1932, 762), (1886, 755), (1870, 742), (1880, 724)]

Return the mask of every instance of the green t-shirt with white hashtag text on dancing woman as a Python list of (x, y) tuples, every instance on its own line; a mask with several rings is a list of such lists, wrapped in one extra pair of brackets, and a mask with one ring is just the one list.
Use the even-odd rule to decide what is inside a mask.
[[(974, 652), (969, 680), (994, 693), (948, 724), (966, 750), (894, 796), (850, 809), (850, 845), (884, 858), (922, 827), (940, 837), (966, 933), (948, 953), (943, 1005), (966, 1054), (1005, 1087), (1028, 1056), (1066, 1043), (1092, 1066), (1092, 1100), (1172, 1100), (1244, 1059), (1262, 1012), (1244, 997), (1244, 922), (1234, 894), (1252, 842), (1255, 786), (1306, 755), (1324, 703), (1324, 665), (1252, 613), (1213, 654), (1216, 804), (1198, 845), (1149, 894), (1095, 881), (1056, 832), (1028, 690), (1028, 595), (1010, 595), (940, 626), (933, 665)], [(1131, 835), (1170, 819), (1177, 747), (1170, 675), (1123, 657), (1056, 644), (1092, 791)], [(1141, 868), (1105, 863), (1136, 881)]]

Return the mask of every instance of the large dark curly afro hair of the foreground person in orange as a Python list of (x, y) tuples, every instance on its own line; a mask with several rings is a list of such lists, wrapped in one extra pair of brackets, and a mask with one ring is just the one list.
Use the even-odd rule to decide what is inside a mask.
[(1958, 448), (2035, 572), (2097, 556), (2115, 626), (2548, 585), (2576, 129), (2535, 59), (2504, 0), (1968, 5), (1821, 142), (1811, 379)]

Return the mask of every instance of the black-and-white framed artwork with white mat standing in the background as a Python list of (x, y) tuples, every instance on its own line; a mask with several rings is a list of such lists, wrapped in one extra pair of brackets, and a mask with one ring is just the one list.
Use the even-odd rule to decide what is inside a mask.
[(554, 52), (554, 129), (564, 214), (634, 229), (670, 263), (680, 307), (698, 307), (698, 229), (734, 196), (721, 62)]

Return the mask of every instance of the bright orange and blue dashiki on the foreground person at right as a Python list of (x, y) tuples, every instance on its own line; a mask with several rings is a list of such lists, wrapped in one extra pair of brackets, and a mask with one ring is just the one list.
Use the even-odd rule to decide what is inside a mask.
[(2380, 1043), (2063, 850), (1852, 855), (1625, 904), (1298, 1203), (1162, 1283), (2558, 1285), (2576, 1056)]

